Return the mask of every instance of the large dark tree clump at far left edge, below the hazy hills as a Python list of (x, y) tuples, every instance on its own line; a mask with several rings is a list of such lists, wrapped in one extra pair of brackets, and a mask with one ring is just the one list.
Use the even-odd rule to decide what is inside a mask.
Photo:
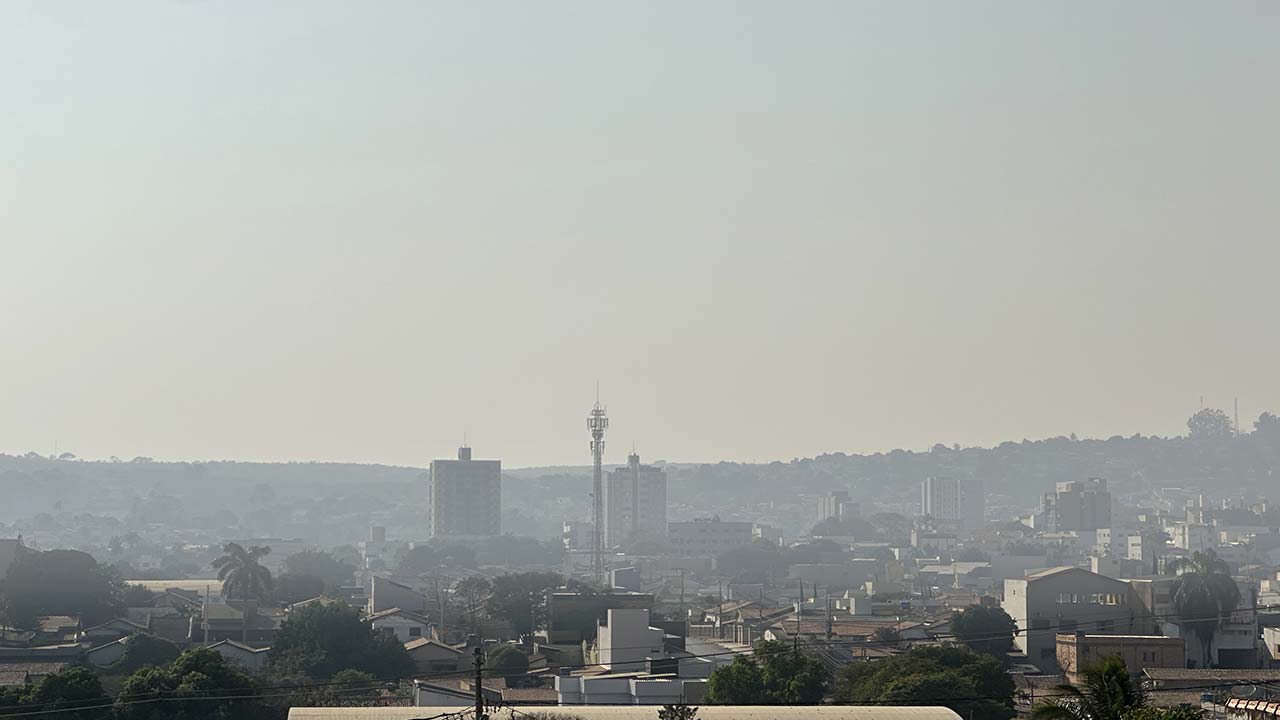
[(123, 587), (110, 568), (78, 550), (23, 552), (4, 583), (5, 616), (32, 628), (40, 615), (79, 615), (86, 626), (105, 623), (123, 609)]

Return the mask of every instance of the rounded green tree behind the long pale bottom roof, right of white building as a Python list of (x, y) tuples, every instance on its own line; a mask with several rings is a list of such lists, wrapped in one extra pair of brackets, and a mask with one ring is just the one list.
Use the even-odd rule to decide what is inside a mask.
[(713, 705), (813, 705), (827, 689), (827, 670), (817, 659), (786, 643), (764, 641), (708, 680)]

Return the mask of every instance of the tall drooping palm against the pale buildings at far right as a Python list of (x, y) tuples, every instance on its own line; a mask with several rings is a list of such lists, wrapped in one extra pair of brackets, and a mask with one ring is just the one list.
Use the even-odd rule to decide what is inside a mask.
[(1201, 666), (1208, 667), (1210, 646), (1222, 623), (1240, 602), (1231, 569), (1212, 550), (1179, 557), (1165, 571), (1178, 575), (1170, 602), (1185, 634), (1201, 646)]

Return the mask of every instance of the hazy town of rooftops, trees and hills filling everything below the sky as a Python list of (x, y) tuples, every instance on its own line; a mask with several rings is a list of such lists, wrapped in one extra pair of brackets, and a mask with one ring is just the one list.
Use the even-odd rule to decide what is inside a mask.
[[(589, 421), (600, 439), (605, 416), (596, 405)], [(1280, 468), (1280, 421), (1240, 432), (1202, 410), (1179, 438), (1006, 445), (777, 468), (631, 452), (548, 471), (463, 447), (351, 479), (3, 456), (6, 492), (58, 500), (35, 515), (12, 505), (0, 525), (0, 716), (476, 703), (1275, 716), (1280, 509), (1260, 491)], [(1039, 489), (1027, 503), (1014, 468), (1068, 455), (1096, 474), (1027, 473)], [(1178, 457), (1194, 464), (1165, 482)], [(886, 460), (892, 473), (867, 470)], [(904, 480), (910, 466), (933, 474)], [(320, 489), (296, 482), (308, 470)], [(238, 493), (221, 503), (205, 487), (219, 471), (218, 492)], [(782, 474), (792, 482), (758, 479)], [(84, 483), (132, 497), (128, 510), (92, 512)], [(352, 527), (364, 537), (346, 542)]]

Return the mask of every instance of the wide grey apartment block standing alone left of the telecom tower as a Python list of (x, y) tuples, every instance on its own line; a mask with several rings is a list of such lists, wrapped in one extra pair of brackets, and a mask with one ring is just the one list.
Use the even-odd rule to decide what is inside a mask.
[(502, 461), (472, 460), (470, 447), (457, 460), (431, 461), (431, 537), (502, 534)]

